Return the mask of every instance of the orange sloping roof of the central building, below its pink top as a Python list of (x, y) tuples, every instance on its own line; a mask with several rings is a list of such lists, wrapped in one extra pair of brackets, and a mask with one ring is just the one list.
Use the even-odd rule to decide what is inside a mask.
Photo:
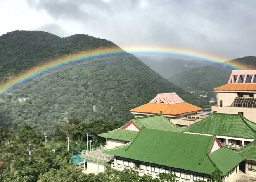
[(197, 107), (187, 102), (181, 102), (176, 104), (147, 103), (131, 109), (130, 112), (141, 112), (149, 114), (157, 114), (162, 112), (164, 115), (178, 115), (201, 110), (201, 107)]

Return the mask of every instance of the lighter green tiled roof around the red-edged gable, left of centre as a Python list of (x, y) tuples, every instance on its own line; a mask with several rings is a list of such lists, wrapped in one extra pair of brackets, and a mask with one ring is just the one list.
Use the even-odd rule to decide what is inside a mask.
[(185, 130), (180, 126), (176, 126), (175, 124), (171, 123), (168, 119), (166, 119), (166, 117), (163, 116), (163, 114), (154, 114), (149, 116), (133, 118), (122, 127), (115, 129), (113, 131), (109, 131), (107, 133), (99, 134), (99, 136), (123, 141), (132, 141), (137, 136), (138, 132), (122, 129), (131, 121), (134, 122), (134, 124), (136, 124), (136, 126), (138, 126), (138, 128), (140, 129), (142, 127), (145, 127), (149, 129), (159, 129), (174, 132), (181, 132)]

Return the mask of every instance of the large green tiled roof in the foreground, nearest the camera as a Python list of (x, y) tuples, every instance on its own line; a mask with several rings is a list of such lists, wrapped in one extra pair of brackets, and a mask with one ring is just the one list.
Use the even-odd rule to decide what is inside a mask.
[(225, 175), (244, 158), (224, 147), (208, 155), (215, 139), (216, 136), (142, 128), (131, 143), (105, 153), (204, 174), (219, 168)]

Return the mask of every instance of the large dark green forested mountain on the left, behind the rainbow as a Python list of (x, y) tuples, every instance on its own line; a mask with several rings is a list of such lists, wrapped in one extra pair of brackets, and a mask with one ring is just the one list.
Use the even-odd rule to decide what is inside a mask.
[[(2, 82), (42, 62), (93, 48), (116, 46), (88, 35), (60, 38), (47, 32), (14, 31), (0, 37)], [(116, 46), (116, 48), (119, 48)], [(27, 123), (52, 133), (65, 114), (85, 122), (123, 121), (129, 109), (149, 102), (161, 92), (176, 92), (199, 104), (194, 95), (173, 85), (132, 54), (68, 65), (25, 83), (0, 98), (0, 124), (19, 128)], [(19, 102), (19, 98), (28, 98)]]

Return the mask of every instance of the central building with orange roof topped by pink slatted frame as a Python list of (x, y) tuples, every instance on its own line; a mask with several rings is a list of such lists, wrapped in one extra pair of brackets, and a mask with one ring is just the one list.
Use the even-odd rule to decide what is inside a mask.
[(199, 111), (202, 108), (184, 102), (176, 93), (157, 94), (149, 103), (130, 110), (135, 117), (162, 113), (179, 126), (189, 126), (206, 117), (197, 114)]

